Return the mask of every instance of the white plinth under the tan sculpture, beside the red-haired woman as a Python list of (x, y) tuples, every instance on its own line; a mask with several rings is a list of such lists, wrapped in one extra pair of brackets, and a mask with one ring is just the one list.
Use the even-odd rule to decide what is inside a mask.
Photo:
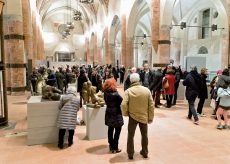
[(107, 138), (108, 127), (105, 125), (106, 107), (86, 107), (86, 136), (89, 140)]

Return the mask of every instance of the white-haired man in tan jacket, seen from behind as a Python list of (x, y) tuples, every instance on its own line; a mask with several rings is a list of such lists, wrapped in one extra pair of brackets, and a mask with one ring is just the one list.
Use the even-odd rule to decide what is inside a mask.
[(152, 94), (148, 88), (141, 86), (138, 73), (130, 75), (130, 82), (131, 86), (125, 91), (121, 104), (122, 114), (129, 117), (127, 153), (129, 159), (133, 159), (133, 138), (139, 124), (142, 135), (140, 154), (148, 158), (148, 123), (151, 123), (154, 117)]

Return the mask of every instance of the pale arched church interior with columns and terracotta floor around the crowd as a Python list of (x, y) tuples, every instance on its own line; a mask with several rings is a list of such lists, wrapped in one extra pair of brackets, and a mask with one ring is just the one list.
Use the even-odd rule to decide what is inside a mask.
[[(230, 131), (216, 129), (209, 93), (216, 72), (230, 69), (229, 24), (229, 0), (0, 0), (0, 163), (230, 163)], [(69, 148), (60, 150), (57, 141), (29, 144), (32, 126), (52, 124), (47, 119), (51, 113), (30, 119), (36, 114), (29, 110), (35, 104), (30, 103), (31, 98), (36, 97), (30, 79), (34, 69), (124, 66), (126, 78), (128, 70), (141, 70), (144, 63), (152, 70), (170, 64), (183, 72), (189, 72), (191, 66), (198, 72), (207, 69), (209, 96), (203, 107), (206, 117), (199, 118), (199, 126), (186, 119), (188, 102), (181, 79), (176, 105), (154, 109), (153, 123), (148, 125), (147, 159), (139, 154), (139, 127), (134, 160), (128, 159), (127, 117), (120, 134), (120, 153), (109, 152), (107, 136), (87, 138), (87, 124), (94, 117), (76, 126)], [(122, 83), (117, 83), (117, 90), (124, 97)], [(164, 97), (161, 102), (166, 102)], [(41, 103), (47, 104), (40, 108), (57, 106), (58, 111), (55, 102)], [(84, 115), (80, 109), (80, 119)], [(98, 122), (104, 123), (102, 116)], [(101, 132), (101, 126), (95, 128), (92, 130)], [(43, 132), (38, 130), (32, 139)]]

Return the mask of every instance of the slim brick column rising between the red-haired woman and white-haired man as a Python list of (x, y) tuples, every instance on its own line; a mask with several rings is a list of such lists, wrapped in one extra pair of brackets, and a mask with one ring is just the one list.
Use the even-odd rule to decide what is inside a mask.
[(126, 63), (126, 16), (121, 17), (121, 64), (126, 68), (128, 67)]

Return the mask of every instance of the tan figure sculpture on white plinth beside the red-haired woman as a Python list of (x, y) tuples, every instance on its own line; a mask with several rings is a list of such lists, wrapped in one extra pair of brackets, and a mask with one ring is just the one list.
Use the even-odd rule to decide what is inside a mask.
[(100, 108), (105, 105), (103, 93), (96, 93), (96, 90), (97, 88), (92, 86), (90, 81), (87, 81), (83, 84), (82, 97), (84, 104), (87, 104), (88, 107)]

